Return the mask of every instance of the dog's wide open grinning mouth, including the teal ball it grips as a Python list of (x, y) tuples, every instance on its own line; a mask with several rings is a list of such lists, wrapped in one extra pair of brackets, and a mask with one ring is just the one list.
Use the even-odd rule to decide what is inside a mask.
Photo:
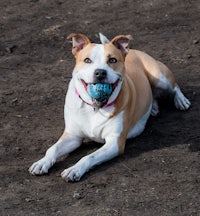
[(85, 91), (92, 99), (93, 106), (98, 109), (107, 104), (119, 81), (120, 79), (114, 83), (86, 83), (84, 80), (81, 80)]

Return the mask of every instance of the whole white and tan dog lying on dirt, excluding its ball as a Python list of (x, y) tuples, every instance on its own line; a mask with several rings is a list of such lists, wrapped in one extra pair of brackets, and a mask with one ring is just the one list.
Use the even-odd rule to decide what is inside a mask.
[[(100, 34), (101, 44), (91, 43), (83, 34), (71, 34), (69, 38), (76, 65), (66, 95), (65, 130), (29, 172), (47, 173), (60, 157), (77, 149), (83, 138), (103, 143), (61, 174), (67, 181), (79, 181), (90, 168), (122, 154), (127, 138), (142, 133), (150, 114), (158, 113), (157, 90), (172, 95), (177, 109), (187, 110), (190, 102), (163, 63), (128, 49), (130, 35), (109, 41)], [(103, 102), (92, 99), (87, 92), (88, 84), (99, 82), (112, 84), (112, 94)]]

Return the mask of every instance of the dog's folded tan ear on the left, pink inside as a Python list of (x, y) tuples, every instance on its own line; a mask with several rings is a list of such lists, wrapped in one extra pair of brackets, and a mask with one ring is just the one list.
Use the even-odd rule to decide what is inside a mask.
[(84, 34), (70, 34), (67, 39), (72, 38), (72, 53), (76, 55), (80, 50), (82, 50), (86, 45), (90, 43), (90, 40)]

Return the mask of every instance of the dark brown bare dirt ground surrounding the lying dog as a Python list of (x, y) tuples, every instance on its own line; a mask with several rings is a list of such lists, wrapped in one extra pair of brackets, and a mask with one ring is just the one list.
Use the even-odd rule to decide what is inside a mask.
[[(74, 59), (66, 36), (131, 34), (132, 48), (166, 63), (191, 100), (170, 100), (125, 154), (78, 183), (65, 168), (99, 148), (86, 143), (48, 175), (28, 173), (64, 129)], [(199, 0), (0, 1), (0, 215), (200, 215)]]

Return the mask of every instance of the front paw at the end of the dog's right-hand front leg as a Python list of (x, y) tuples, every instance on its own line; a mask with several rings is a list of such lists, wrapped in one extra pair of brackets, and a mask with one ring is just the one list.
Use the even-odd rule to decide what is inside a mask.
[(61, 173), (62, 178), (68, 182), (79, 181), (82, 175), (83, 174), (81, 172), (81, 169), (77, 165), (74, 165), (68, 169), (65, 169)]

